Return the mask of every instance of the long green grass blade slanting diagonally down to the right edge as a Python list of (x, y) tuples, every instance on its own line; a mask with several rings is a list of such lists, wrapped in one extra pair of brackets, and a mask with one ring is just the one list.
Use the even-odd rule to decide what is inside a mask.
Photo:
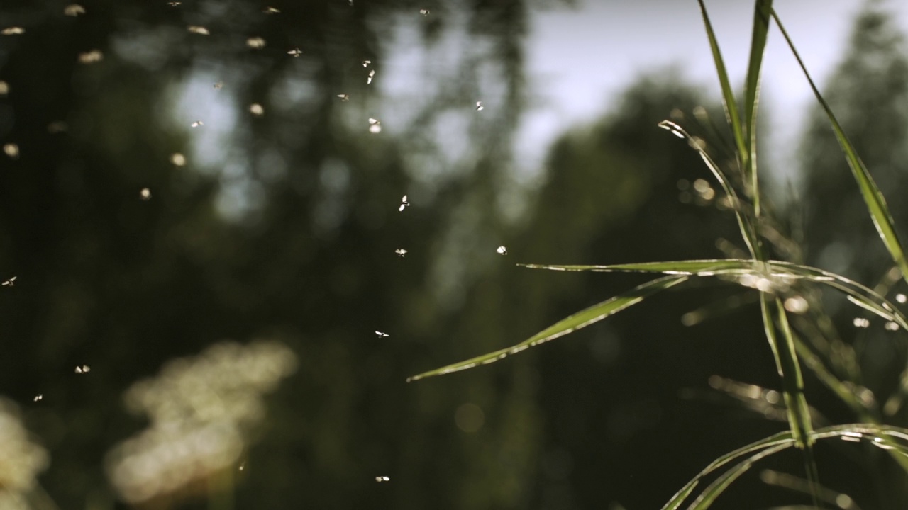
[(839, 121), (835, 118), (833, 110), (823, 99), (820, 90), (816, 88), (814, 80), (807, 72), (804, 61), (801, 60), (801, 55), (797, 53), (795, 44), (785, 31), (785, 26), (782, 25), (782, 21), (775, 13), (775, 10), (772, 11), (772, 15), (775, 19), (775, 24), (779, 27), (779, 31), (785, 36), (785, 41), (788, 43), (788, 47), (791, 48), (792, 54), (795, 54), (795, 59), (797, 59), (798, 64), (800, 64), (801, 70), (807, 78), (807, 83), (810, 83), (810, 88), (814, 91), (816, 100), (823, 106), (824, 112), (829, 118), (829, 123), (833, 126), (835, 138), (838, 140), (839, 145), (845, 153), (845, 159), (848, 162), (848, 166), (851, 167), (852, 174), (854, 174), (854, 180), (857, 181), (858, 187), (861, 190), (861, 195), (864, 197), (864, 202), (867, 204), (867, 211), (870, 212), (870, 217), (873, 220), (876, 231), (880, 234), (880, 239), (883, 240), (886, 250), (889, 250), (889, 254), (892, 256), (895, 264), (899, 267), (899, 270), (902, 271), (902, 278), (905, 281), (908, 281), (908, 262), (905, 260), (902, 243), (895, 234), (893, 216), (886, 206), (886, 200), (883, 198), (883, 193), (876, 186), (876, 182), (873, 181), (873, 177), (871, 177), (867, 167), (864, 166), (864, 162), (861, 161), (857, 152), (854, 151), (854, 146), (848, 141), (848, 137), (845, 135), (842, 125), (839, 124)]

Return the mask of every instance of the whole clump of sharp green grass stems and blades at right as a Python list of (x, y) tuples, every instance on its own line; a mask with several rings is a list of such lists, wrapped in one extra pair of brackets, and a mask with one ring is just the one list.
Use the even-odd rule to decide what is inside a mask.
[[(437, 368), (414, 376), (410, 380), (439, 376), (498, 361), (521, 350), (585, 328), (636, 305), (662, 290), (683, 286), (691, 280), (703, 278), (725, 280), (751, 289), (758, 298), (765, 338), (775, 359), (775, 369), (781, 378), (788, 430), (716, 458), (684, 485), (663, 508), (675, 509), (688, 501), (690, 502), (688, 508), (696, 510), (708, 508), (716, 497), (725, 491), (725, 488), (751, 466), (754, 466), (755, 462), (788, 448), (795, 448), (802, 452), (807, 485), (809, 485), (808, 491), (813, 497), (814, 506), (820, 506), (824, 504), (824, 500), (828, 499), (824, 495), (824, 491), (828, 492), (828, 490), (818, 482), (813, 453), (814, 444), (817, 441), (834, 437), (867, 440), (870, 444), (879, 446), (888, 452), (908, 471), (908, 460), (906, 460), (908, 459), (908, 429), (882, 425), (874, 407), (875, 404), (865, 398), (862, 387), (838, 377), (834, 374), (834, 370), (827, 368), (830, 362), (824, 359), (824, 350), (817, 348), (821, 342), (816, 341), (815, 338), (816, 332), (822, 328), (795, 327), (789, 320), (789, 314), (804, 314), (804, 317), (812, 319), (814, 324), (824, 319), (821, 307), (816, 302), (816, 294), (806, 291), (812, 287), (823, 286), (843, 293), (855, 306), (869, 310), (901, 329), (908, 330), (908, 319), (881, 293), (884, 291), (872, 289), (870, 286), (827, 270), (797, 263), (797, 260), (770, 258), (773, 245), (777, 240), (775, 236), (767, 235), (770, 230), (767, 225), (771, 221), (766, 217), (766, 208), (761, 207), (756, 157), (760, 72), (770, 25), (778, 28), (800, 64), (804, 77), (810, 84), (816, 101), (822, 107), (832, 126), (835, 138), (844, 152), (845, 160), (851, 168), (854, 181), (861, 192), (866, 210), (870, 214), (879, 238), (893, 260), (893, 271), (901, 273), (902, 278), (906, 281), (908, 281), (908, 262), (905, 260), (902, 242), (895, 233), (893, 218), (883, 198), (883, 193), (873, 181), (871, 173), (855, 152), (854, 146), (849, 142), (832, 109), (807, 72), (795, 49), (795, 44), (773, 8), (772, 0), (755, 1), (753, 36), (745, 78), (744, 99), (741, 103), (735, 97), (725, 71), (725, 62), (707, 14), (706, 5), (703, 0), (698, 0), (698, 3), (715, 62), (716, 74), (719, 78), (725, 120), (734, 138), (735, 162), (729, 165), (730, 168), (723, 168), (717, 164), (706, 151), (706, 144), (690, 135), (683, 126), (677, 123), (664, 121), (659, 123), (659, 127), (686, 140), (691, 149), (702, 158), (725, 192), (725, 203), (728, 204), (728, 209), (735, 214), (735, 221), (749, 256), (739, 259), (672, 260), (605, 266), (526, 264), (525, 266), (528, 268), (542, 270), (634, 271), (660, 276), (611, 299), (580, 310), (517, 345)], [(798, 322), (800, 323), (801, 320), (799, 319)], [(850, 407), (863, 423), (814, 428), (810, 407), (804, 394), (802, 366), (812, 371), (814, 376), (847, 407)], [(902, 381), (905, 386), (908, 375), (903, 374)], [(901, 401), (893, 401), (887, 403), (887, 406), (898, 406), (900, 403)], [(706, 485), (707, 476), (711, 480), (708, 485)], [(701, 487), (701, 484), (706, 487)]]

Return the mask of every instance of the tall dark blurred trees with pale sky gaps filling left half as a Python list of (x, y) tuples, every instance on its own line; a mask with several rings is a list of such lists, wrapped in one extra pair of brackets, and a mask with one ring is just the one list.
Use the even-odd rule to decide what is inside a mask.
[[(0, 141), (18, 147), (0, 162), (0, 271), (18, 277), (0, 292), (0, 392), (30, 407), (47, 492), (112, 502), (105, 452), (143, 427), (123, 391), (268, 337), (299, 369), (244, 454), (238, 506), (522, 505), (527, 378), (404, 380), (455, 351), (439, 340), (463, 289), (494, 270), (473, 260), (497, 244), (462, 241), (503, 229), (525, 5), (83, 6), (0, 6), (25, 28), (0, 39)], [(421, 63), (398, 58), (413, 46)], [(472, 320), (493, 347), (501, 319)]]

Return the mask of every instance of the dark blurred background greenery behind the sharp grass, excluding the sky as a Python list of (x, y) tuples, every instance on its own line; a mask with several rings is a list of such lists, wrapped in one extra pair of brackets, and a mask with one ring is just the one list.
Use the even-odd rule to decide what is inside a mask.
[[(46, 451), (0, 460), (0, 491), (21, 495), (10, 508), (650, 508), (786, 429), (758, 301), (709, 282), (489, 368), (405, 383), (643, 281), (514, 262), (743, 253), (703, 162), (656, 127), (672, 119), (734, 160), (718, 98), (683, 74), (643, 76), (566, 132), (533, 187), (511, 153), (530, 92), (523, 2), (83, 6), (0, 6), (0, 29), (25, 30), (0, 36), (0, 143), (15, 146), (0, 159), (0, 280), (15, 277), (0, 287), (0, 394)], [(904, 225), (908, 66), (887, 20), (868, 4), (827, 99)], [(387, 64), (395, 44), (419, 47), (416, 71)], [(405, 72), (412, 93), (376, 90)], [(777, 250), (904, 291), (835, 144), (818, 111), (795, 200), (765, 184)], [(844, 353), (830, 359), (854, 361), (832, 368), (906, 425), (903, 407), (883, 412), (902, 391), (904, 331), (823, 304), (824, 339)], [(858, 419), (805, 373), (816, 425)], [(7, 445), (28, 444), (5, 423)], [(203, 438), (222, 456), (193, 449)], [(140, 473), (182, 477), (128, 492), (117, 466), (136, 451), (157, 452)], [(816, 455), (823, 484), (855, 505), (841, 507), (908, 504), (882, 450)], [(192, 467), (168, 469), (174, 458)], [(763, 467), (804, 476), (796, 452)], [(810, 501), (760, 475), (723, 504)]]

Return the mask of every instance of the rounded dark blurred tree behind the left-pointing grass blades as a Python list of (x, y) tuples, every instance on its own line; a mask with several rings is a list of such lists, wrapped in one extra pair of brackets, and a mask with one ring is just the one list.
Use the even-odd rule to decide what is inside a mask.
[[(614, 112), (555, 143), (533, 214), (512, 243), (519, 260), (740, 256), (721, 189), (686, 142), (656, 127), (666, 118), (701, 136), (733, 168), (730, 138), (710, 121), (723, 123), (721, 110), (676, 71), (647, 74)], [(517, 289), (517, 309), (533, 310), (514, 319), (518, 338), (646, 279), (528, 270), (512, 278), (507, 288)], [(733, 414), (735, 433), (723, 433), (728, 407), (716, 406), (715, 395), (683, 398), (689, 388), (708, 389), (714, 374), (777, 385), (754, 303), (732, 285), (694, 281), (533, 349), (547, 417), (533, 507), (657, 507), (723, 451), (784, 428), (762, 419), (742, 424)]]

